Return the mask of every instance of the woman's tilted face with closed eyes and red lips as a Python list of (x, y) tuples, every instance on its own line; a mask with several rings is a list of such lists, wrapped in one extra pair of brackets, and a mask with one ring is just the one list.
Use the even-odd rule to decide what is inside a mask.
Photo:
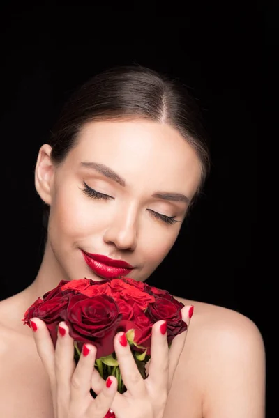
[[(44, 149), (36, 171), (48, 194), (42, 180), (36, 187), (50, 204), (52, 271), (66, 280), (147, 279), (172, 248), (199, 186), (195, 150), (169, 125), (139, 119), (84, 125), (58, 166)], [(115, 260), (133, 268), (119, 270)]]

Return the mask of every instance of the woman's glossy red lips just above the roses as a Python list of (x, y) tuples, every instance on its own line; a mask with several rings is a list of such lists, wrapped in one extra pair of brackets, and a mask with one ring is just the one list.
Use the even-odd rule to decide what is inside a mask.
[(110, 257), (100, 254), (90, 254), (82, 251), (86, 264), (98, 276), (105, 279), (116, 279), (117, 277), (126, 276), (133, 270), (133, 265), (126, 261), (113, 260)]

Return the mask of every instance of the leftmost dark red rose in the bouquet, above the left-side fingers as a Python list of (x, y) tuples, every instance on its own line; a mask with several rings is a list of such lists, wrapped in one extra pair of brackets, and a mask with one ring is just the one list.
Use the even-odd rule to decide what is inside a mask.
[(63, 311), (66, 310), (68, 302), (73, 295), (70, 293), (62, 296), (52, 297), (52, 299), (43, 300), (38, 297), (36, 302), (31, 305), (25, 312), (24, 323), (27, 323), (29, 327), (31, 318), (40, 318), (47, 325), (47, 329), (50, 332), (54, 346), (57, 341), (57, 325), (61, 320)]

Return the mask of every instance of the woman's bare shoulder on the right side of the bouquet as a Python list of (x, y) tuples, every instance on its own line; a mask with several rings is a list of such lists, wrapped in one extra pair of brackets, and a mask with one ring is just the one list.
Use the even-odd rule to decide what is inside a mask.
[(194, 306), (179, 367), (190, 368), (202, 416), (264, 417), (265, 348), (257, 325), (232, 309), (176, 299)]

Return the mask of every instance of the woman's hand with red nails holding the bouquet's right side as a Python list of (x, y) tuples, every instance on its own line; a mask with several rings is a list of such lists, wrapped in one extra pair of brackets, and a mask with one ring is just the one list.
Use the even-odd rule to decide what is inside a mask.
[[(190, 315), (189, 315), (190, 312)], [(186, 306), (181, 310), (183, 320), (189, 325), (193, 307)], [(163, 320), (153, 325), (151, 359), (149, 376), (143, 379), (137, 369), (135, 360), (126, 343), (126, 336), (119, 332), (114, 339), (114, 348), (119, 362), (121, 376), (127, 388), (124, 394), (116, 393), (112, 403), (112, 410), (116, 418), (162, 418), (167, 395), (172, 386), (172, 380), (179, 357), (186, 340), (186, 332), (179, 334), (172, 341), (169, 349), (167, 334)], [(105, 387), (105, 381), (99, 373), (92, 376), (91, 387), (96, 394), (100, 394)]]

